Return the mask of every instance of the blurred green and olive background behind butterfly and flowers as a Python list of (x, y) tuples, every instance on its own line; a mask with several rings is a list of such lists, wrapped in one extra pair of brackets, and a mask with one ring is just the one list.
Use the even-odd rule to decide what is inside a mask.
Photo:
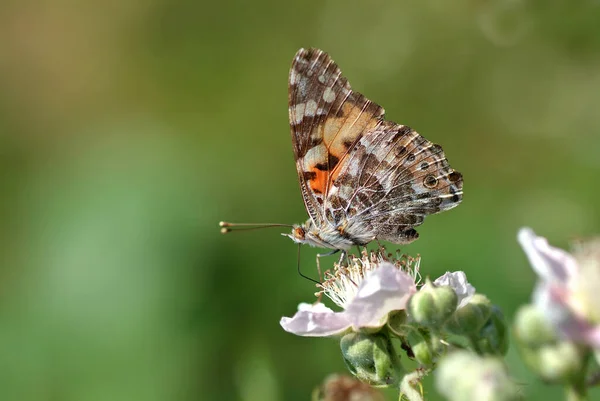
[(512, 318), (534, 283), (519, 227), (600, 232), (599, 20), (592, 0), (2, 2), (0, 399), (307, 400), (345, 371), (335, 340), (279, 327), (315, 291), (296, 246), (217, 227), (306, 219), (300, 47), (444, 146), (464, 201), (402, 250)]

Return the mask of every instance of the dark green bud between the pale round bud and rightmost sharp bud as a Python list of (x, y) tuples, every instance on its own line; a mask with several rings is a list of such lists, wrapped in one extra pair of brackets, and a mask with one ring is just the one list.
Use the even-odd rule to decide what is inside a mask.
[(452, 334), (473, 336), (479, 333), (492, 315), (492, 303), (485, 295), (475, 294), (468, 304), (459, 308), (445, 329)]

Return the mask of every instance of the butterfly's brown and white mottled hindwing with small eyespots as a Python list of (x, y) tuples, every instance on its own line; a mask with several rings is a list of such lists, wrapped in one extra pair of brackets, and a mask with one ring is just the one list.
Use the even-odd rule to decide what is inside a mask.
[(328, 207), (347, 219), (350, 236), (397, 244), (414, 241), (425, 216), (457, 206), (462, 175), (441, 146), (411, 128), (385, 121), (363, 135), (333, 181)]

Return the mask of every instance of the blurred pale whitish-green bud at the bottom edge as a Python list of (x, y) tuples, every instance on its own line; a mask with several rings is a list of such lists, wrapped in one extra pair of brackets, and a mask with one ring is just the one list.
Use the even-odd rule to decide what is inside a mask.
[(438, 391), (450, 401), (523, 399), (502, 360), (469, 351), (455, 351), (442, 358), (435, 379)]

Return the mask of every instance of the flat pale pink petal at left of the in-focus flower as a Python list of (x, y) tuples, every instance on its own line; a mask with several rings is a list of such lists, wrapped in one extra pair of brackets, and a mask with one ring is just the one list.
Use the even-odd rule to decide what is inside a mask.
[(322, 303), (302, 303), (293, 317), (282, 317), (279, 324), (288, 333), (304, 337), (328, 337), (350, 327), (344, 312), (334, 312)]

